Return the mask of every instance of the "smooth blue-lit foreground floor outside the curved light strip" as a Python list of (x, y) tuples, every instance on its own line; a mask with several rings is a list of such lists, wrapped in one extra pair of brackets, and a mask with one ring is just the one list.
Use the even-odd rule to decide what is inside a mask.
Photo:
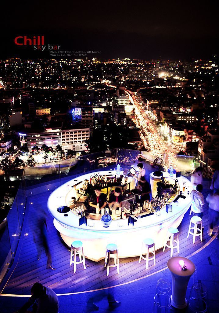
[[(213, 240), (201, 252), (190, 259), (197, 264), (197, 279), (208, 288), (208, 312), (218, 312), (219, 307), (219, 249), (218, 240)], [(59, 296), (60, 313), (64, 312), (91, 312), (89, 303), (94, 302), (99, 306), (98, 312), (112, 311), (109, 309), (108, 293), (114, 295), (121, 305), (114, 309), (115, 312), (152, 312), (153, 298), (157, 280), (167, 278), (171, 280), (168, 269), (154, 274), (148, 278), (121, 285), (108, 290), (79, 293), (76, 295)], [(192, 278), (187, 289), (189, 298)], [(13, 312), (24, 304), (27, 298), (0, 297), (1, 313)], [(88, 303), (88, 304), (87, 304)], [(177, 310), (172, 310), (173, 312)], [(186, 310), (179, 310), (181, 312)]]

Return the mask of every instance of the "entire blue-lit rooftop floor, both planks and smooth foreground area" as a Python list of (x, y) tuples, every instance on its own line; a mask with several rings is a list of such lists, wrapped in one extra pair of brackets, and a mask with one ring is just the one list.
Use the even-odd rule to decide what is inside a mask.
[[(205, 197), (207, 193), (208, 191), (205, 190)], [(48, 195), (49, 194), (46, 193), (43, 196), (40, 195), (28, 199), (29, 203), (33, 202), (30, 206), (28, 219), (34, 219), (34, 209), (37, 208), (39, 203), (45, 205)], [(208, 311), (217, 312), (219, 307), (219, 240), (214, 239), (214, 237), (210, 238), (207, 235), (208, 214), (206, 204), (203, 217), (205, 226), (203, 242), (201, 243), (200, 239), (197, 239), (193, 245), (192, 236), (186, 239), (190, 218), (188, 214), (189, 212), (185, 214), (179, 226), (179, 255), (189, 257), (197, 264), (197, 280), (205, 284), (208, 289)], [(28, 235), (24, 238), (17, 267), (5, 286), (3, 293), (11, 295), (29, 295), (32, 284), (39, 281), (53, 288), (57, 294), (77, 293), (59, 296), (59, 313), (72, 312), (73, 310), (76, 312), (90, 312), (92, 310), (89, 303), (92, 302), (99, 306), (99, 312), (112, 311), (112, 309), (108, 307), (108, 294), (113, 295), (116, 300), (121, 301), (121, 305), (114, 309), (115, 312), (137, 312), (139, 310), (152, 312), (157, 280), (160, 278), (171, 280), (169, 270), (164, 269), (170, 257), (168, 249), (166, 249), (164, 253), (162, 251), (156, 252), (157, 264), (155, 266), (150, 264), (147, 271), (143, 261), (138, 264), (138, 258), (127, 258), (121, 260), (120, 275), (116, 274), (116, 269), (112, 269), (110, 270), (110, 275), (107, 277), (106, 270), (103, 269), (103, 261), (95, 263), (89, 260), (86, 262), (86, 265), (88, 265), (86, 270), (78, 267), (76, 274), (73, 274), (72, 267), (69, 267), (70, 253), (58, 237), (50, 216), (48, 216), (48, 222), (50, 227), (50, 244), (52, 247), (53, 263), (57, 269), (55, 271), (46, 269), (45, 254), (37, 261), (37, 252), (32, 240), (31, 226), (27, 224)], [(196, 253), (197, 251), (199, 252)], [(175, 252), (174, 255), (178, 254)], [(156, 273), (157, 271), (159, 272)], [(150, 276), (143, 278), (146, 275)], [(193, 278), (189, 281), (187, 299), (189, 298), (192, 283)], [(115, 285), (119, 286), (113, 287)], [(91, 291), (101, 288), (108, 289)], [(0, 312), (13, 312), (25, 303), (26, 300), (27, 298), (23, 297), (12, 299), (11, 296), (1, 296)], [(172, 310), (172, 312), (175, 311), (176, 310)], [(181, 310), (181, 312), (183, 311), (186, 310)]]

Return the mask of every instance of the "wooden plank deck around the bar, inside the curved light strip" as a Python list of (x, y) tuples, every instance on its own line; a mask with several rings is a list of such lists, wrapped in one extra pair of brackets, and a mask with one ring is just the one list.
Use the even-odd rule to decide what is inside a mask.
[[(204, 198), (207, 197), (208, 190), (204, 190)], [(141, 278), (149, 273), (153, 273), (159, 269), (166, 267), (167, 260), (170, 258), (170, 249), (159, 250), (156, 252), (156, 265), (153, 262), (149, 263), (148, 270), (145, 269), (145, 261), (138, 263), (139, 257), (135, 258), (121, 258), (120, 259), (120, 274), (117, 274), (116, 268), (110, 269), (109, 276), (106, 275), (104, 269), (104, 261), (93, 262), (86, 259), (86, 269), (83, 265), (77, 266), (76, 273), (73, 273), (73, 266), (69, 266), (70, 252), (63, 244), (62, 239), (53, 226), (53, 218), (48, 213), (49, 243), (52, 252), (52, 261), (56, 270), (46, 268), (47, 257), (43, 253), (40, 260), (37, 260), (37, 250), (33, 242), (32, 225), (35, 221), (35, 210), (39, 204), (43, 207), (47, 205), (47, 195), (39, 195), (28, 198), (30, 204), (28, 213), (28, 223), (21, 254), (18, 264), (5, 286), (3, 293), (6, 294), (30, 294), (31, 286), (35, 282), (41, 282), (43, 285), (51, 287), (57, 294), (79, 292), (85, 290), (94, 290), (98, 288), (113, 286), (125, 283), (131, 280)], [(203, 226), (205, 227), (203, 233), (203, 241), (197, 237), (195, 244), (192, 244), (192, 236), (187, 239), (187, 232), (190, 222), (189, 211), (185, 214), (182, 223), (179, 226), (179, 240), (180, 240), (180, 254), (175, 252), (173, 255), (181, 255), (187, 257), (192, 252), (202, 247), (210, 237), (207, 234), (208, 223), (208, 204), (205, 204)], [(30, 222), (32, 221), (32, 222)]]

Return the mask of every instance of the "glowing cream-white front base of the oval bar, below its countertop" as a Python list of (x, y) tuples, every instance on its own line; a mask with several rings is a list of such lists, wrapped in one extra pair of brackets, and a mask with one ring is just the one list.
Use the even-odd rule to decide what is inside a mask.
[[(150, 218), (146, 217), (145, 219)], [(80, 239), (83, 242), (84, 254), (87, 259), (93, 261), (99, 261), (105, 258), (107, 244), (116, 244), (118, 247), (118, 254), (120, 258), (139, 256), (142, 251), (142, 239), (152, 238), (155, 242), (155, 249), (160, 249), (164, 246), (167, 229), (169, 227), (178, 227), (181, 223), (183, 215), (180, 215), (177, 219), (170, 220), (168, 223), (162, 225), (158, 224), (148, 228), (137, 229), (137, 223), (135, 226), (129, 225), (130, 229), (124, 231), (104, 231), (98, 233), (95, 230), (84, 232), (76, 232), (71, 229), (65, 228), (64, 225), (54, 219), (53, 223), (55, 228), (60, 232), (60, 235), (64, 242), (71, 247), (74, 240)], [(126, 220), (127, 222), (127, 220)], [(136, 229), (135, 229), (136, 228)], [(90, 234), (92, 232), (92, 234)], [(145, 250), (146, 253), (146, 250)]]

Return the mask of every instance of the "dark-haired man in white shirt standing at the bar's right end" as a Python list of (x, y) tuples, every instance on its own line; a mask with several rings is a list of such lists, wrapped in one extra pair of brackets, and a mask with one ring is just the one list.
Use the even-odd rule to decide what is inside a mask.
[(197, 185), (196, 190), (192, 190), (190, 197), (192, 199), (192, 213), (194, 216), (202, 218), (204, 212), (204, 197), (202, 195), (203, 187), (201, 184)]

